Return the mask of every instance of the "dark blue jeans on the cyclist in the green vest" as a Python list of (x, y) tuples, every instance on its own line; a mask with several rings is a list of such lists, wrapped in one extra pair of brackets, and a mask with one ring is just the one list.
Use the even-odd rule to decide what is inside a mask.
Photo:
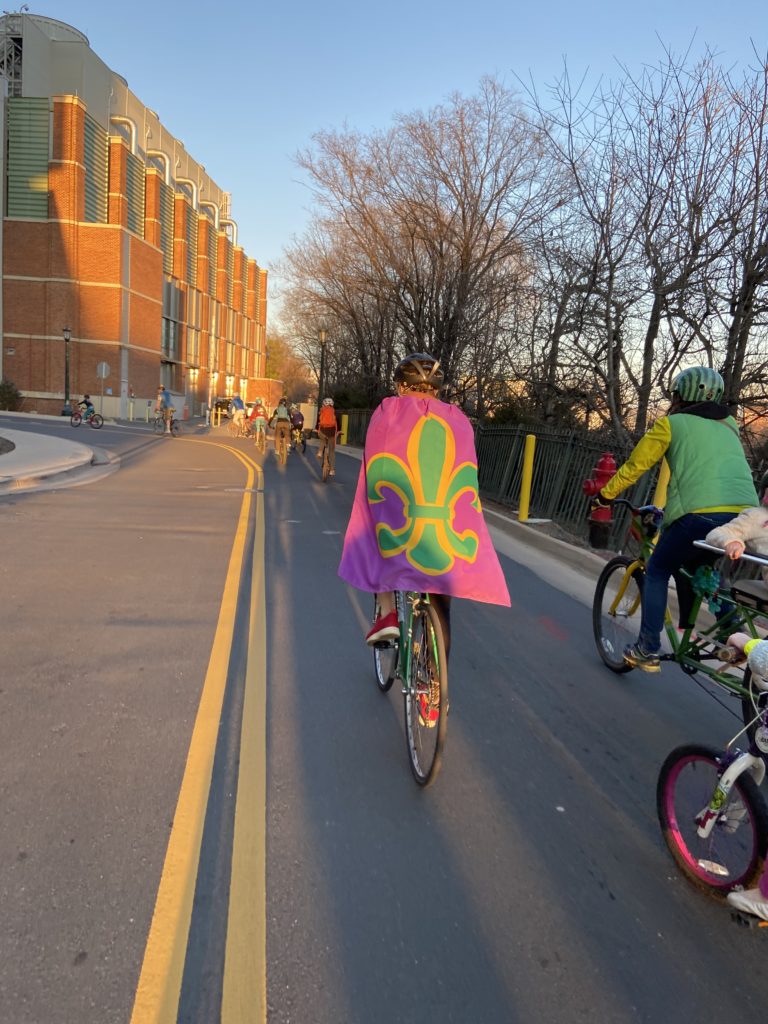
[(643, 606), (640, 617), (640, 646), (655, 654), (662, 646), (662, 630), (667, 610), (667, 592), (670, 578), (675, 578), (680, 604), (680, 625), (687, 626), (693, 607), (690, 581), (680, 572), (685, 566), (712, 564), (715, 556), (693, 547), (694, 541), (703, 541), (711, 529), (722, 526), (736, 516), (735, 512), (689, 512), (680, 516), (662, 530), (653, 554), (648, 559), (643, 585)]

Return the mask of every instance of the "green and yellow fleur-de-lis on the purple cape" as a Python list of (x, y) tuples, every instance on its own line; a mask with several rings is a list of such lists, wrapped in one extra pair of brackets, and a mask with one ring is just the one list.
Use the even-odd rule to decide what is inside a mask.
[(453, 522), (462, 495), (472, 496), (478, 512), (477, 467), (456, 465), (456, 438), (447, 423), (429, 413), (411, 432), (407, 462), (382, 453), (368, 464), (366, 480), (371, 505), (393, 492), (402, 503), (402, 525), (382, 522), (376, 526), (379, 551), (384, 558), (404, 552), (411, 564), (429, 575), (450, 572), (457, 558), (474, 562), (479, 541), (466, 529), (458, 534)]

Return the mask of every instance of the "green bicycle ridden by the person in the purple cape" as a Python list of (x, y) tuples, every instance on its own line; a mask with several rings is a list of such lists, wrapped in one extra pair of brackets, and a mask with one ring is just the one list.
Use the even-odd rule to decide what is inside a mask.
[[(447, 729), (447, 657), (442, 625), (428, 594), (395, 593), (399, 637), (374, 644), (376, 682), (402, 686), (409, 762), (419, 785), (437, 777)], [(378, 599), (374, 617), (379, 617)]]

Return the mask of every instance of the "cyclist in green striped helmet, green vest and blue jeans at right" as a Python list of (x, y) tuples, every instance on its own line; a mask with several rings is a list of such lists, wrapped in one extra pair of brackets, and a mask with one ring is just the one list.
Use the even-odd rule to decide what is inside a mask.
[(669, 492), (658, 543), (645, 569), (640, 635), (624, 650), (625, 662), (643, 672), (660, 670), (658, 652), (671, 577), (677, 586), (679, 626), (688, 626), (693, 592), (680, 569), (706, 560), (693, 542), (758, 504), (738, 426), (721, 402), (724, 391), (723, 378), (710, 367), (691, 367), (678, 374), (672, 382), (667, 415), (655, 421), (592, 500), (593, 508), (609, 506), (643, 473), (667, 459)]

